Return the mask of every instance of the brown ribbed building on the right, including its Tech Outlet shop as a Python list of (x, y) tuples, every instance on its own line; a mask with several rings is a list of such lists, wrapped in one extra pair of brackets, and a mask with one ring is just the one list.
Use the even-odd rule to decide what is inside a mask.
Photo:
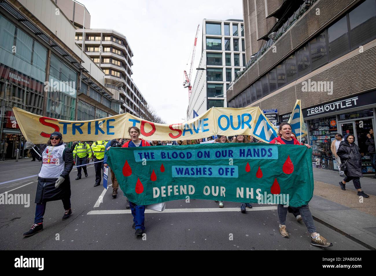
[(243, 0), (243, 14), (247, 64), (227, 106), (277, 109), (280, 123), (300, 99), (312, 166), (337, 170), (331, 142), (351, 133), (375, 173), (376, 0)]

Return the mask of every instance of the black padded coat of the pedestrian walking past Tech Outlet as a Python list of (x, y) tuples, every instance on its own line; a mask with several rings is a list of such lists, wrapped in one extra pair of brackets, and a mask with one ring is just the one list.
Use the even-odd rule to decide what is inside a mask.
[(355, 143), (350, 145), (349, 142), (342, 141), (338, 147), (337, 155), (340, 157), (342, 164), (346, 162), (346, 176), (363, 177), (362, 155), (359, 152), (358, 145)]

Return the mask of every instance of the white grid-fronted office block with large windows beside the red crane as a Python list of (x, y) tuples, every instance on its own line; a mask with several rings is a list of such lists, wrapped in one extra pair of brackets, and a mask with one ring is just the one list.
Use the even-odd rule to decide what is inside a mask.
[(226, 90), (246, 63), (243, 20), (202, 21), (202, 54), (193, 80), (187, 118), (211, 107), (226, 107)]

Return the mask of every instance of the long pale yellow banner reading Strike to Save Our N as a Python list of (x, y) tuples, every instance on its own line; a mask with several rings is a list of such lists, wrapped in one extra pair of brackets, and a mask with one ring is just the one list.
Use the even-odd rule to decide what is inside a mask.
[(268, 143), (277, 136), (277, 129), (259, 107), (212, 107), (194, 119), (170, 125), (149, 122), (129, 113), (91, 121), (65, 121), (39, 116), (18, 107), (14, 107), (13, 112), (25, 138), (35, 144), (46, 143), (54, 131), (60, 131), (65, 142), (129, 138), (128, 128), (132, 126), (138, 127), (140, 137), (149, 141), (245, 134)]

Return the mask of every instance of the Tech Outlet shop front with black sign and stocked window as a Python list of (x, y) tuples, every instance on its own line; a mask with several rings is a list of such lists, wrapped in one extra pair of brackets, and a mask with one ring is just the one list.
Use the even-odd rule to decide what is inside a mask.
[(353, 134), (362, 154), (362, 172), (375, 173), (371, 165), (368, 146), (365, 145), (370, 129), (375, 130), (376, 91), (353, 95), (331, 103), (303, 109), (308, 140), (312, 146), (312, 166), (337, 170), (331, 152), (336, 133)]

